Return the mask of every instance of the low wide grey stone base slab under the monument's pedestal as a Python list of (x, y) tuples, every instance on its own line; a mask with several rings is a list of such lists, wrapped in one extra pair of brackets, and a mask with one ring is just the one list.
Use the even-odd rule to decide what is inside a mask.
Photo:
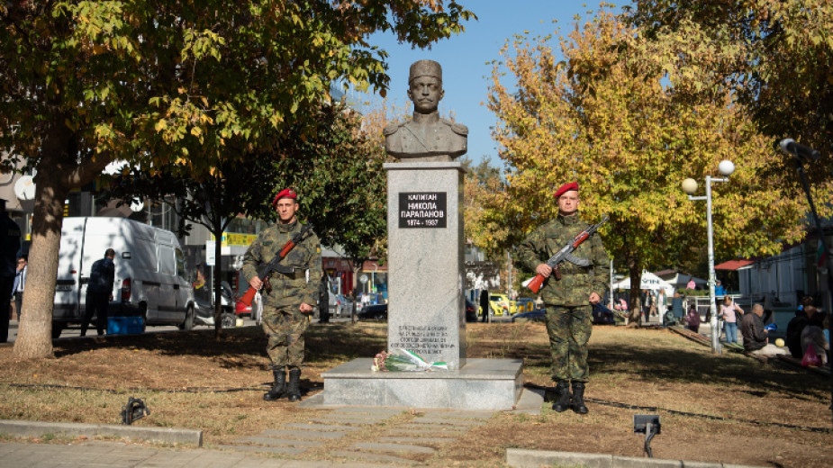
[(521, 397), (521, 359), (467, 359), (457, 371), (432, 372), (373, 372), (372, 362), (358, 358), (322, 373), (322, 404), (506, 411)]

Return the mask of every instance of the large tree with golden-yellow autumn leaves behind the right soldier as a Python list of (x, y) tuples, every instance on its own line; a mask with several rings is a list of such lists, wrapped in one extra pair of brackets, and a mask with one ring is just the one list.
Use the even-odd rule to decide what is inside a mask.
[[(715, 67), (737, 51), (695, 32), (646, 40), (602, 11), (560, 39), (564, 61), (548, 38), (507, 45), (514, 87), (495, 68), (489, 105), (509, 167), (509, 225), (528, 232), (557, 215), (553, 191), (577, 180), (582, 215), (610, 215), (605, 246), (638, 284), (643, 268), (705, 243), (705, 207), (689, 202), (680, 183), (717, 175), (730, 159), (731, 182), (712, 187), (717, 251), (765, 255), (801, 238), (805, 206), (769, 172), (771, 141), (734, 85), (713, 85)], [(631, 304), (638, 311), (637, 289)]]

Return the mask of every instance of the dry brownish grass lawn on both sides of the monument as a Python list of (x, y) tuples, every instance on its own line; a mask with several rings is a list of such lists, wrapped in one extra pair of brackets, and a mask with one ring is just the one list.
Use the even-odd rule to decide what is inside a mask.
[[(323, 388), (321, 373), (386, 346), (386, 324), (313, 324), (302, 388)], [(538, 323), (470, 323), (469, 357), (523, 358), (528, 386), (551, 386), (546, 330)], [(266, 339), (258, 328), (161, 333), (55, 342), (56, 359), (25, 361), (0, 347), (0, 419), (119, 422), (128, 397), (151, 410), (136, 425), (199, 428), (206, 446), (253, 436), (275, 421), (306, 421), (321, 410), (261, 399)], [(656, 458), (730, 464), (822, 467), (833, 460), (830, 383), (802, 369), (765, 365), (661, 329), (595, 327), (590, 342), (590, 414), (497, 413), (442, 446), (433, 466), (494, 466), (508, 447), (642, 455), (634, 414), (658, 413)]]

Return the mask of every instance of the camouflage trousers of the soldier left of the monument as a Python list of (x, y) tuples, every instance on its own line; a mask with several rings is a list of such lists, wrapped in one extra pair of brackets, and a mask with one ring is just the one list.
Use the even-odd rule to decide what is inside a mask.
[(303, 333), (310, 321), (298, 310), (298, 306), (264, 307), (264, 333), (268, 338), (267, 355), (272, 369), (303, 366)]

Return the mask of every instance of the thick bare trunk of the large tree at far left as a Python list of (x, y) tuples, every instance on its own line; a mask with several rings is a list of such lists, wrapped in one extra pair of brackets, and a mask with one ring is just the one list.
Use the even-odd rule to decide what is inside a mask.
[(64, 200), (68, 188), (51, 158), (41, 158), (36, 175), (35, 206), (32, 213), (32, 246), (23, 316), (14, 341), (14, 356), (24, 359), (54, 357), (52, 353), (52, 308), (58, 279), (60, 229), (64, 221)]

